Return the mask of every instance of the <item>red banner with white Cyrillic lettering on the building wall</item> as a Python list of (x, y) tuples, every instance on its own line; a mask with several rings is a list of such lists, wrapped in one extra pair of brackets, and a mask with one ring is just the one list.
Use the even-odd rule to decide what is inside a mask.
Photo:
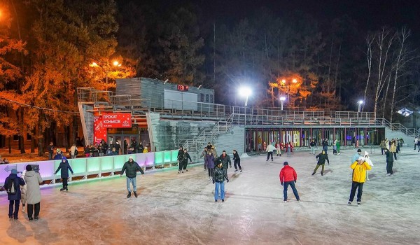
[(130, 113), (105, 113), (99, 116), (94, 116), (94, 143), (99, 143), (102, 139), (106, 141), (107, 128), (122, 127), (132, 127), (132, 118)]

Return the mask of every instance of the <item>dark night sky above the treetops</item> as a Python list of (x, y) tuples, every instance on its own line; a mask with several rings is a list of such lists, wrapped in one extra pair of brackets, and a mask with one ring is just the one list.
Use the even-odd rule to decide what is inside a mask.
[[(168, 6), (167, 1), (153, 1)], [(284, 15), (292, 11), (308, 13), (319, 22), (328, 22), (342, 15), (349, 15), (365, 31), (388, 27), (407, 26), (415, 36), (420, 36), (420, 1), (417, 0), (172, 0), (174, 6), (192, 3), (199, 6), (205, 18), (229, 24), (246, 18), (258, 8), (266, 7), (273, 13)]]

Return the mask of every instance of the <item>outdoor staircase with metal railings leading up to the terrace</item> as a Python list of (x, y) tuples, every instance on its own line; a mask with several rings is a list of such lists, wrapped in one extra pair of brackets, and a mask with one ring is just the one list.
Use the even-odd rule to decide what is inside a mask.
[(221, 120), (214, 125), (211, 130), (203, 130), (195, 139), (187, 139), (183, 142), (183, 148), (187, 148), (191, 153), (201, 153), (208, 142), (214, 143), (217, 137), (225, 134), (232, 127), (232, 115), (226, 120)]

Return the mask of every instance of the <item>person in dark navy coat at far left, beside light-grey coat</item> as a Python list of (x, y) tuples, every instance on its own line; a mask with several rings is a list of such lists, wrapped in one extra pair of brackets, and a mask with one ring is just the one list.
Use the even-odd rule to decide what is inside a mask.
[[(20, 192), (20, 186), (25, 186), (25, 181), (18, 177), (18, 170), (12, 169), (9, 176), (4, 181), (4, 188), (7, 192), (7, 200), (9, 201), (9, 218), (18, 219), (19, 205), (22, 193)], [(13, 205), (14, 211), (13, 211)]]

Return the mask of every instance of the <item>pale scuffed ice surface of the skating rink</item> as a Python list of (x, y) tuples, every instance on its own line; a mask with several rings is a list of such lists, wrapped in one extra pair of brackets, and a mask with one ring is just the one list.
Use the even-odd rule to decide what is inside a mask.
[[(1, 195), (0, 244), (420, 244), (420, 153), (402, 148), (387, 177), (376, 149), (360, 207), (356, 199), (347, 205), (354, 153), (330, 154), (324, 176), (321, 169), (311, 176), (309, 151), (274, 155), (273, 162), (242, 158), (244, 172), (228, 170), (224, 203), (214, 202), (202, 166), (137, 176), (139, 198), (126, 198), (125, 176), (71, 183), (69, 193), (43, 189), (39, 221), (22, 211), (9, 221)], [(285, 160), (297, 171), (300, 203), (290, 188), (283, 203)]]

